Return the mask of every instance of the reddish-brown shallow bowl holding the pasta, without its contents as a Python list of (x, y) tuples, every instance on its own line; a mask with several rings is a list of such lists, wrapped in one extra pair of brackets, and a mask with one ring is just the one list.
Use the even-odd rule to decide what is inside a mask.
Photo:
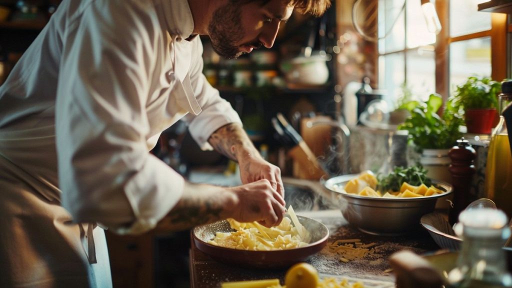
[(209, 244), (208, 241), (214, 238), (215, 233), (233, 231), (226, 220), (198, 226), (192, 231), (192, 237), (201, 252), (219, 262), (252, 268), (287, 268), (295, 263), (306, 261), (321, 251), (329, 238), (329, 229), (321, 222), (300, 215), (297, 217), (311, 234), (309, 245), (300, 248), (247, 251)]

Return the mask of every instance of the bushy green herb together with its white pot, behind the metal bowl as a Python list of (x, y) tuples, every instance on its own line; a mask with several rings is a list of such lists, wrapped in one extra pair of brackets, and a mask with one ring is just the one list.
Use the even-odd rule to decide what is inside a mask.
[(402, 104), (411, 115), (398, 129), (408, 131), (408, 140), (421, 154), (419, 162), (428, 170), (427, 176), (451, 182), (448, 171), (451, 159), (448, 152), (462, 137), (459, 127), (463, 120), (459, 115), (446, 110), (439, 116), (437, 112), (442, 104), (439, 94), (431, 94), (424, 102), (410, 101)]

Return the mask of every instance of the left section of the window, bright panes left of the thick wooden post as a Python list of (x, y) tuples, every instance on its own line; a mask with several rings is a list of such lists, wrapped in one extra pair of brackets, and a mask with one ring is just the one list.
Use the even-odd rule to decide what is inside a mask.
[(420, 0), (379, 0), (378, 31), (378, 83), (389, 104), (404, 83), (415, 95), (434, 92), (436, 34), (427, 29)]

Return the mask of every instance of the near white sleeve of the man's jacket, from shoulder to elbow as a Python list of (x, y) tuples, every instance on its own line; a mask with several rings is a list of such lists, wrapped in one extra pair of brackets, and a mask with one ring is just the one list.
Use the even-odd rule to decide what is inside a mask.
[(118, 233), (155, 227), (184, 179), (148, 153), (145, 105), (163, 47), (141, 1), (95, 1), (68, 26), (60, 63), (56, 138), (62, 205), (76, 222)]

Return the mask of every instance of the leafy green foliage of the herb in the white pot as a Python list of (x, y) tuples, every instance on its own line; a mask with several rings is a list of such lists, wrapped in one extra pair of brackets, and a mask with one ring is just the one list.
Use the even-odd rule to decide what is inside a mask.
[(407, 130), (409, 141), (414, 143), (418, 152), (423, 149), (449, 149), (462, 137), (459, 126), (462, 118), (454, 113), (439, 116), (443, 100), (439, 94), (431, 94), (426, 102), (410, 101), (402, 105), (409, 110), (411, 116), (398, 126), (399, 130)]

